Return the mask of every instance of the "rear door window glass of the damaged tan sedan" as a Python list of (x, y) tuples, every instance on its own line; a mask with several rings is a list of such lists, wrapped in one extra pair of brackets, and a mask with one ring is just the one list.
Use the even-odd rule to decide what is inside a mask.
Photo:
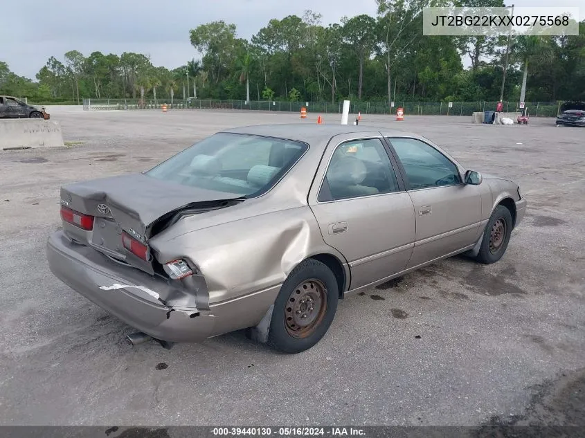
[(396, 174), (381, 141), (352, 140), (333, 152), (318, 200), (335, 201), (398, 190)]

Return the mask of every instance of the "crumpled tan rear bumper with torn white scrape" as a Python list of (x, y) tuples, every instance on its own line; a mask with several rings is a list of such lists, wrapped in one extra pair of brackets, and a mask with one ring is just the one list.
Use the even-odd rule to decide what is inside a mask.
[[(61, 230), (48, 238), (46, 251), (49, 268), (57, 278), (153, 338), (199, 342), (213, 331), (216, 318), (210, 311), (172, 309), (154, 298), (157, 286), (167, 286), (164, 280), (134, 268), (118, 268), (114, 262), (99, 263), (99, 257), (105, 256), (71, 242)], [(127, 269), (132, 269), (132, 279), (120, 275)]]

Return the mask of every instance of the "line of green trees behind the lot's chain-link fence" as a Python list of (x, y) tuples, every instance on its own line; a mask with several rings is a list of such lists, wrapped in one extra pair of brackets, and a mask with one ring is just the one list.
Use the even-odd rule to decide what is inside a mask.
[[(213, 21), (189, 31), (198, 60), (156, 67), (141, 53), (48, 59), (36, 81), (0, 62), (0, 94), (42, 102), (82, 98), (338, 101), (585, 100), (585, 21), (576, 36), (424, 37), (423, 0), (376, 0), (377, 16), (325, 26), (311, 10), (271, 19), (251, 39)], [(481, 3), (481, 4), (474, 4)], [(489, 3), (489, 4), (488, 4)], [(457, 0), (498, 6), (502, 0)], [(471, 66), (465, 69), (462, 58)], [(505, 66), (507, 68), (505, 69)], [(521, 96), (522, 84), (525, 96)]]

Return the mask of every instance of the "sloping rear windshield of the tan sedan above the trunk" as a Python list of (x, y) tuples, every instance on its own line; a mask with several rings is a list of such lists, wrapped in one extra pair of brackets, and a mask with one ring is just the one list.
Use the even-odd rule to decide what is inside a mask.
[(202, 140), (145, 174), (191, 187), (260, 196), (307, 150), (281, 138), (219, 133)]

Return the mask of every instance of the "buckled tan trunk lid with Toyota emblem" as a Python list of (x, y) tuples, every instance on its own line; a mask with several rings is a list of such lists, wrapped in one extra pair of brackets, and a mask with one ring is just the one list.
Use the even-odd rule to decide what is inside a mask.
[(125, 250), (122, 232), (147, 244), (150, 237), (183, 214), (224, 208), (241, 201), (240, 194), (217, 192), (169, 183), (144, 174), (71, 183), (61, 188), (61, 203), (71, 210), (94, 216), (93, 230), (64, 223), (69, 237), (100, 252), (153, 274), (150, 261)]

